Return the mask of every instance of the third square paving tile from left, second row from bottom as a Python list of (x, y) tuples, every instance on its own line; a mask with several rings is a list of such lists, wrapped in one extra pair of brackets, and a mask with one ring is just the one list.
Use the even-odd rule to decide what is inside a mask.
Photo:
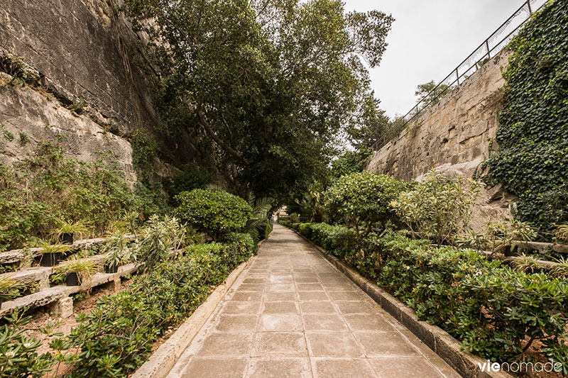
[(314, 357), (364, 357), (351, 333), (306, 333), (310, 356)]

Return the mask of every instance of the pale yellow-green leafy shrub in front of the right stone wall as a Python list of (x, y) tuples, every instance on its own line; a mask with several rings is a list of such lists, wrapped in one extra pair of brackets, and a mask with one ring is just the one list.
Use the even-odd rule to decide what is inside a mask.
[(431, 170), (424, 181), (401, 193), (391, 206), (415, 237), (438, 245), (454, 243), (469, 223), (479, 189), (479, 182), (472, 179), (447, 179)]

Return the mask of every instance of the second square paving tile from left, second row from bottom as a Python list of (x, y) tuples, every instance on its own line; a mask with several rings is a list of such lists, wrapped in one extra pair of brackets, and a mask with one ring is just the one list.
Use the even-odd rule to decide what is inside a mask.
[(261, 332), (255, 336), (252, 357), (307, 356), (304, 335), (300, 332)]

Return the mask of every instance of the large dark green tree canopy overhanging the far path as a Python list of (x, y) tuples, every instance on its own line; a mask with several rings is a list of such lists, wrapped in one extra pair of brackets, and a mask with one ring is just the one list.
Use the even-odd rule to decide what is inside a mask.
[(160, 72), (166, 124), (201, 128), (241, 194), (281, 197), (327, 168), (375, 104), (366, 67), (393, 18), (341, 1), (128, 0)]

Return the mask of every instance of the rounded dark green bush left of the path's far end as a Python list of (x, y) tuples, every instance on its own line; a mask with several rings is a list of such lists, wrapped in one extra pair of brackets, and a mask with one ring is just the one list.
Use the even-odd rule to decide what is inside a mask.
[(178, 195), (175, 213), (198, 230), (219, 240), (246, 226), (252, 209), (244, 199), (226, 191), (194, 189)]

